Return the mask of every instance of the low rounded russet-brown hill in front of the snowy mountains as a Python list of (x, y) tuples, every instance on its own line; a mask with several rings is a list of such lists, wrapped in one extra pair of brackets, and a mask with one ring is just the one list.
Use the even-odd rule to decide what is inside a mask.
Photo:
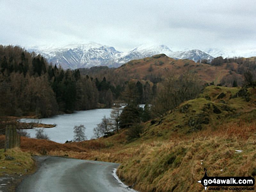
[[(238, 64), (233, 64), (233, 66), (236, 69)], [(230, 70), (228, 68), (227, 64), (212, 66), (210, 64), (195, 63), (188, 59), (175, 60), (165, 54), (159, 54), (130, 61), (117, 68), (115, 72), (126, 74), (126, 77), (133, 79), (147, 79), (150, 75), (168, 77), (191, 71), (198, 74), (206, 82), (214, 81), (215, 84), (218, 84), (222, 77), (229, 74)]]

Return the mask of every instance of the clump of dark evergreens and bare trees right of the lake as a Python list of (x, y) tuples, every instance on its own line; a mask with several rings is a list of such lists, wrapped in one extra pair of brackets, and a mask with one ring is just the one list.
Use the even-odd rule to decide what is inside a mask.
[[(102, 118), (102, 122), (94, 128), (94, 136), (108, 137), (119, 129), (126, 129), (128, 140), (139, 138), (143, 133), (143, 122), (151, 120), (154, 123), (152, 119), (162, 117), (182, 102), (196, 98), (203, 88), (204, 82), (189, 72), (165, 78), (155, 88), (155, 93), (147, 83), (143, 85), (139, 81), (130, 81), (123, 91), (126, 106), (114, 106), (111, 117)], [(139, 104), (144, 101), (150, 102), (141, 108)]]

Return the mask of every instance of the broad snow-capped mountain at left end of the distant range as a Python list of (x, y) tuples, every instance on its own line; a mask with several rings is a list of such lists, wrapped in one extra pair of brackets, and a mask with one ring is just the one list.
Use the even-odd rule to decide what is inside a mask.
[(114, 47), (101, 44), (76, 44), (63, 48), (33, 47), (28, 51), (34, 51), (48, 59), (48, 62), (61, 65), (67, 69), (93, 67), (99, 65), (112, 66), (116, 57), (121, 53)]

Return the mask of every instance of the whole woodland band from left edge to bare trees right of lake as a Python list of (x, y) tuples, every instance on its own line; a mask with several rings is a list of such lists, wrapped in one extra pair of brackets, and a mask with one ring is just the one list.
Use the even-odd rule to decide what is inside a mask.
[[(121, 100), (127, 106), (115, 120), (118, 130), (162, 116), (202, 89), (202, 83), (189, 72), (150, 78), (127, 79), (106, 67), (64, 70), (23, 48), (0, 46), (0, 115), (49, 117), (99, 104), (110, 108)], [(146, 110), (138, 104), (146, 104)]]

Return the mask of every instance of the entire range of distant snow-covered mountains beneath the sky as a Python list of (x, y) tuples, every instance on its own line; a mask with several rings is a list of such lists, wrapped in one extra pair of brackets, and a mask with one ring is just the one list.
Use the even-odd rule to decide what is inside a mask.
[(61, 65), (67, 69), (89, 68), (94, 66), (119, 67), (128, 61), (151, 57), (156, 54), (166, 54), (174, 59), (189, 59), (198, 61), (202, 59), (212, 60), (210, 54), (200, 50), (172, 51), (169, 47), (140, 46), (129, 52), (117, 51), (114, 47), (102, 44), (73, 44), (66, 47), (30, 47), (29, 52), (35, 52), (45, 57), (52, 64)]

